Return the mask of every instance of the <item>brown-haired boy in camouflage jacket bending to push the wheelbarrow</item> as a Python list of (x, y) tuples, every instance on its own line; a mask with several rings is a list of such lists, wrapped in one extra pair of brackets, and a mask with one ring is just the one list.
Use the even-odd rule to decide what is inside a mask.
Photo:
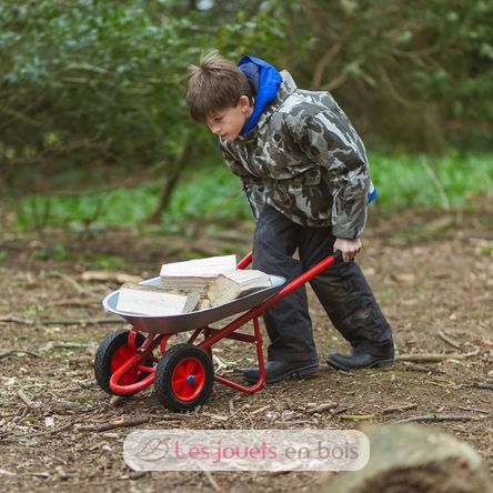
[[(243, 57), (238, 66), (217, 52), (189, 68), (191, 117), (219, 135), (231, 171), (241, 178), (256, 220), (253, 266), (289, 280), (336, 250), (343, 263), (311, 285), (350, 355), (331, 353), (339, 370), (391, 364), (392, 333), (363, 273), (352, 262), (371, 200), (363, 142), (329, 92), (296, 89), (288, 71)], [(298, 249), (300, 260), (292, 258)], [(265, 381), (319, 369), (304, 288), (264, 315), (271, 341)], [(256, 382), (259, 368), (243, 376)]]

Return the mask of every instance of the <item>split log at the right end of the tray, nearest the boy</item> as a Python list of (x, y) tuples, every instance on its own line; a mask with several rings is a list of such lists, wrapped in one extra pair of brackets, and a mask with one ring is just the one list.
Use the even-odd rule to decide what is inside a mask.
[(219, 274), (207, 293), (211, 305), (217, 306), (271, 285), (271, 279), (264, 272), (237, 269)]

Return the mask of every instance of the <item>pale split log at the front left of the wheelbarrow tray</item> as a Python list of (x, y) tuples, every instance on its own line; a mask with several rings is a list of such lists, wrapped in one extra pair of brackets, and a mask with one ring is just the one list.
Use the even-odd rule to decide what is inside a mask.
[(199, 303), (199, 293), (172, 294), (155, 285), (123, 284), (117, 310), (142, 315), (168, 316), (189, 313)]

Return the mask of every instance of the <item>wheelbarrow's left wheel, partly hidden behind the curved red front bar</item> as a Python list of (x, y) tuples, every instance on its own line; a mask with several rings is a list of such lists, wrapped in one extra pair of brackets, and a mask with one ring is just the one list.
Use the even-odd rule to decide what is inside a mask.
[[(94, 356), (95, 380), (99, 383), (99, 386), (104, 392), (111, 395), (119, 395), (118, 392), (113, 392), (110, 389), (110, 379), (114, 371), (111, 369), (111, 363), (118, 350), (120, 350), (121, 353), (122, 351), (125, 351), (124, 346), (127, 346), (128, 351), (130, 352), (130, 348), (128, 346), (129, 332), (130, 331), (121, 330), (108, 334), (99, 345)], [(144, 340), (145, 338), (141, 333), (138, 333), (135, 338), (135, 345), (140, 346), (144, 342)], [(152, 359), (149, 358), (148, 360), (145, 360), (144, 364), (145, 366), (152, 366), (153, 365)], [(131, 381), (139, 382), (140, 380), (144, 379), (148, 374), (149, 373), (145, 372), (139, 372), (139, 373), (131, 372), (130, 375), (125, 374), (123, 376), (127, 376), (128, 380), (130, 379)], [(134, 382), (129, 382), (129, 383), (134, 383)]]

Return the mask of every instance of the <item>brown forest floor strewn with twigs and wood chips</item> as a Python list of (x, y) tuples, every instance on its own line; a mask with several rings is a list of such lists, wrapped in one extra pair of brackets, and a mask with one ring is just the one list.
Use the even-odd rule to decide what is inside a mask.
[[(132, 429), (78, 430), (138, 416), (148, 419), (141, 427), (164, 430), (298, 430), (355, 429), (364, 422), (460, 414), (463, 421), (426, 425), (465, 441), (493, 470), (491, 224), (492, 217), (485, 213), (410, 214), (372, 224), (364, 239), (359, 262), (392, 324), (398, 354), (439, 353), (450, 354), (449, 359), (398, 361), (390, 369), (354, 373), (322, 364), (316, 378), (269, 385), (253, 395), (217, 383), (207, 404), (189, 414), (163, 409), (152, 389), (127, 400), (100, 390), (93, 378), (94, 353), (108, 332), (127, 325), (118, 318), (92, 322), (110, 318), (100, 301), (119, 288), (115, 272), (145, 279), (155, 276), (164, 260), (244, 254), (249, 227), (190, 239), (128, 230), (92, 237), (63, 231), (1, 233), (1, 490), (319, 489), (319, 473), (212, 473), (212, 480), (202, 472), (139, 473), (122, 457), (122, 441)], [(103, 269), (101, 259), (114, 255), (125, 265)], [(102, 281), (84, 281), (88, 270), (109, 274)], [(321, 360), (329, 351), (348, 351), (311, 292), (310, 296)], [(241, 380), (241, 369), (254, 361), (251, 348), (239, 342), (225, 341), (214, 354), (221, 371), (232, 379)], [(326, 402), (336, 406), (308, 412)], [(399, 410), (406, 405), (410, 409)], [(344, 419), (344, 413), (373, 417)]]

